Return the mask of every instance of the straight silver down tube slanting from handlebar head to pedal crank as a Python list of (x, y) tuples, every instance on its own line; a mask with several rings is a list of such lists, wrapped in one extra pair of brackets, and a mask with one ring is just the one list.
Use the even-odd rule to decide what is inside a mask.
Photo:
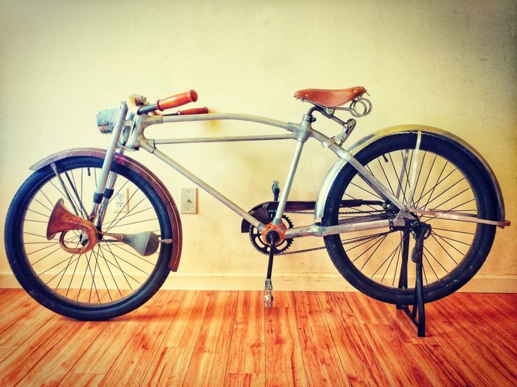
[(230, 201), (230, 199), (221, 194), (221, 192), (216, 191), (214, 187), (207, 184), (202, 179), (199, 179), (199, 177), (197, 177), (192, 172), (184, 168), (183, 165), (176, 163), (176, 161), (164, 154), (162, 151), (156, 149), (155, 147), (152, 147), (147, 141), (140, 141), (140, 147), (148, 151), (150, 154), (154, 154), (155, 156), (157, 156), (157, 158), (164, 161), (164, 163), (171, 166), (176, 171), (180, 172), (181, 175), (185, 176), (191, 182), (194, 182), (195, 184), (200, 186), (202, 189), (204, 189), (204, 191), (207, 191), (211, 196), (214, 196), (214, 198), (216, 198), (218, 201), (230, 208), (230, 210), (233, 210), (233, 212), (236, 212), (237, 215), (240, 215), (240, 217), (242, 217), (243, 219), (247, 220), (247, 222), (255, 226), (256, 229), (258, 229), (258, 231), (264, 231), (266, 229), (266, 226), (258, 219), (249, 215), (247, 211), (244, 211), (238, 205), (233, 203), (233, 201)]

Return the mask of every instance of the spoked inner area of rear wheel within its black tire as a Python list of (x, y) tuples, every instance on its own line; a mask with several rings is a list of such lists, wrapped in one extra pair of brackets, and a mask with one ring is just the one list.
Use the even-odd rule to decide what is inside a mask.
[[(365, 166), (393, 195), (412, 208), (462, 212), (472, 216), (478, 215), (480, 211), (475, 190), (464, 172), (450, 159), (433, 151), (395, 149), (372, 158)], [(357, 198), (382, 201), (379, 194), (359, 175), (354, 175), (346, 186), (343, 199)], [(476, 244), (480, 226), (440, 219), (433, 215), (414, 215), (432, 227), (431, 236), (424, 243), (423, 254), (424, 287), (429, 291), (440, 287), (453, 273), (465, 266), (468, 261), (466, 257), (469, 257)], [(390, 215), (381, 205), (362, 205), (352, 210), (341, 209), (339, 219), (365, 216), (393, 218), (393, 214)], [(409, 243), (404, 243), (406, 238)], [(400, 269), (405, 262), (403, 257), (405, 254), (410, 256), (414, 246), (410, 229), (347, 234), (342, 243), (355, 270), (367, 280), (392, 290), (403, 287), (400, 280)], [(407, 264), (407, 276), (411, 289), (415, 276), (411, 259)]]

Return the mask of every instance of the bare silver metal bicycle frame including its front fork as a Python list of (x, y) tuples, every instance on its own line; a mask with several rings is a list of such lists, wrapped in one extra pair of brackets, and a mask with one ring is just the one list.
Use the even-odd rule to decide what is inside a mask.
[[(134, 111), (134, 109), (133, 109)], [(303, 144), (309, 139), (314, 138), (318, 140), (320, 143), (325, 144), (327, 148), (334, 151), (334, 153), (342, 158), (343, 160), (351, 163), (354, 168), (356, 168), (360, 176), (365, 179), (365, 182), (369, 184), (369, 186), (374, 189), (382, 198), (386, 201), (393, 203), (400, 210), (400, 215), (395, 217), (395, 219), (383, 219), (377, 220), (373, 222), (362, 222), (356, 224), (338, 224), (336, 226), (321, 226), (320, 224), (313, 223), (309, 226), (301, 226), (294, 227), (292, 229), (288, 229), (285, 233), (285, 238), (294, 238), (300, 236), (326, 236), (334, 233), (345, 233), (348, 231), (360, 231), (360, 230), (369, 230), (369, 229), (379, 229), (379, 228), (393, 228), (393, 226), (403, 226), (405, 221), (404, 217), (408, 219), (414, 219), (412, 215), (407, 212), (405, 205), (401, 203), (398, 198), (391, 194), (391, 191), (388, 191), (385, 186), (383, 186), (371, 173), (369, 173), (366, 168), (364, 168), (360, 163), (358, 163), (353, 156), (348, 153), (345, 149), (340, 147), (338, 144), (332, 143), (331, 139), (322, 133), (314, 130), (312, 128), (312, 122), (314, 121), (313, 116), (311, 114), (305, 114), (302, 118), (301, 123), (289, 123), (283, 121), (277, 121), (270, 118), (260, 117), (260, 116), (250, 116), (245, 114), (196, 114), (196, 115), (187, 115), (187, 116), (137, 116), (136, 120), (133, 122), (133, 118), (136, 115), (132, 111), (128, 111), (126, 104), (123, 102), (119, 107), (119, 114), (117, 115), (117, 120), (113, 129), (113, 137), (110, 142), (110, 146), (107, 150), (105, 163), (103, 165), (103, 170), (100, 174), (98, 186), (96, 189), (96, 194), (94, 197), (94, 205), (91, 210), (90, 219), (94, 219), (97, 211), (99, 210), (99, 205), (102, 202), (103, 193), (107, 189), (109, 192), (110, 189), (114, 186), (114, 177), (113, 174), (109, 173), (110, 165), (112, 162), (112, 158), (114, 156), (115, 151), (119, 151), (122, 153), (124, 148), (119, 147), (117, 149), (117, 144), (121, 140), (122, 128), (124, 124), (129, 124), (126, 126), (131, 126), (131, 134), (126, 133), (127, 141), (126, 148), (128, 149), (139, 149), (143, 148), (148, 151), (150, 154), (154, 154), (159, 159), (164, 161), (167, 165), (174, 168), (176, 171), (180, 172), (181, 175), (190, 179), (190, 181), (197, 184), (199, 187), (207, 191), (208, 194), (214, 196), (218, 201), (221, 201), (224, 205), (226, 205), (230, 210), (233, 210), (240, 215), (243, 219), (245, 219), (249, 224), (258, 229), (258, 231), (264, 231), (266, 229), (266, 224), (263, 224), (260, 220), (256, 219), (252, 215), (250, 215), (247, 211), (240, 208), (237, 204), (230, 201), (229, 198), (216, 191), (212, 186), (204, 182), (202, 179), (194, 175), (192, 172), (184, 168), (182, 165), (178, 164), (172, 158), (164, 154), (164, 152), (157, 149), (157, 145), (159, 144), (192, 144), (192, 143), (202, 143), (202, 142), (235, 142), (235, 141), (263, 141), (263, 140), (296, 140), (296, 147), (294, 149), (294, 155), (291, 161), (291, 165), (289, 167), (289, 172), (287, 173), (287, 178), (284, 184), (284, 189), (279, 198), (279, 204), (277, 207), (277, 212), (273, 219), (273, 224), (280, 224), (282, 215), (284, 212), (285, 205), (287, 203), (287, 199), (289, 198), (289, 192), (292, 187), (292, 183), (294, 181), (294, 176), (296, 175), (296, 169), (301, 157), (301, 153), (303, 150)], [(124, 118), (128, 118), (124, 120)], [(162, 123), (178, 123), (178, 122), (190, 122), (190, 121), (212, 121), (212, 120), (240, 120), (240, 121), (248, 121), (254, 123), (261, 123), (264, 125), (270, 125), (277, 128), (282, 128), (287, 130), (291, 134), (287, 135), (256, 135), (256, 136), (235, 136), (235, 137), (204, 137), (204, 138), (190, 138), (190, 139), (165, 139), (165, 140), (155, 140), (148, 139), (144, 135), (145, 128), (148, 128), (150, 125), (157, 125)], [(122, 135), (124, 136), (124, 135)], [(109, 179), (109, 181), (108, 181)], [(103, 208), (100, 208), (101, 212), (103, 212)], [(99, 217), (102, 222), (103, 213)]]

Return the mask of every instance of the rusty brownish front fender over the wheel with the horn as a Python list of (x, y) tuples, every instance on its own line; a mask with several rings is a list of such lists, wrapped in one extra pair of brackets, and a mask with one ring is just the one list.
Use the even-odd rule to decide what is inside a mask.
[[(63, 158), (77, 156), (92, 156), (98, 158), (105, 158), (106, 151), (97, 148), (68, 149), (66, 151), (60, 151), (56, 154), (44, 158), (41, 161), (38, 161), (37, 163), (32, 165), (30, 169), (40, 170), (41, 168), (46, 167), (46, 165), (55, 163), (55, 161), (60, 161)], [(156, 177), (154, 173), (152, 173), (141, 163), (138, 163), (138, 161), (135, 161), (124, 154), (115, 154), (113, 162), (119, 165), (123, 165), (126, 168), (129, 168), (133, 172), (136, 172), (138, 173), (138, 175), (143, 177), (143, 179), (145, 179), (149, 184), (151, 184), (152, 189), (156, 191), (160, 200), (164, 204), (167, 211), (167, 215), (169, 216), (169, 221), (171, 222), (172, 240), (174, 241), (172, 243), (171, 257), (169, 259), (169, 269), (171, 269), (171, 271), (177, 271), (181, 258), (181, 246), (183, 242), (183, 236), (181, 231), (180, 215), (178, 212), (178, 208), (176, 207), (176, 203), (174, 203), (174, 199), (171, 196), (171, 193), (166, 188), (166, 186), (164, 186), (164, 184), (158, 179), (158, 177)]]

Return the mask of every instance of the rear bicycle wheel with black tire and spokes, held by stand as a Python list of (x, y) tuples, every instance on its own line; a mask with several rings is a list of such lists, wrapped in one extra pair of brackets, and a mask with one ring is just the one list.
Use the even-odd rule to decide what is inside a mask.
[[(400, 191), (404, 203), (411, 196), (414, 170), (414, 208), (439, 208), (495, 219), (495, 189), (485, 168), (471, 152), (452, 140), (423, 133), (414, 168), (416, 143), (415, 133), (395, 134), (369, 144), (355, 158), (393, 194)], [(379, 204), (339, 208), (342, 199), (351, 198)], [(386, 203), (384, 207), (380, 204), (382, 201), (355, 168), (346, 164), (329, 191), (322, 224), (337, 224), (339, 212), (341, 217), (343, 212), (352, 212), (345, 216), (393, 218), (393, 212), (384, 208)], [(420, 214), (419, 218), (433, 229), (424, 240), (423, 258), (423, 297), (424, 302), (431, 302), (458, 290), (476, 274), (492, 247), (495, 226), (431, 215)], [(409, 245), (403, 242), (411, 235), (409, 229), (360, 231), (347, 233), (344, 240), (339, 235), (326, 236), (325, 246), (339, 273), (360, 292), (391, 304), (410, 305), (414, 302), (414, 264), (409, 259), (409, 280), (405, 286), (400, 283), (400, 267), (403, 250), (407, 249), (411, 257), (414, 238), (409, 238)]]

